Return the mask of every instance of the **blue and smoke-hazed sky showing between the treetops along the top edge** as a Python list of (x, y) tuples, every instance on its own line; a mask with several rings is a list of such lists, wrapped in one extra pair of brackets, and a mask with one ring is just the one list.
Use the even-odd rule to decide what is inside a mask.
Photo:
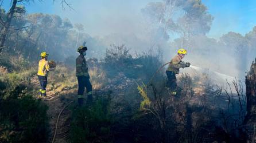
[[(10, 6), (5, 0), (4, 6)], [(57, 14), (72, 23), (82, 23), (86, 32), (95, 35), (118, 33), (125, 29), (135, 32), (139, 27), (141, 9), (148, 2), (160, 0), (69, 0), (74, 10), (63, 10), (60, 0), (36, 1), (26, 6), (28, 13)], [(245, 34), (256, 25), (255, 0), (203, 0), (214, 16), (209, 37), (219, 38), (228, 31)]]

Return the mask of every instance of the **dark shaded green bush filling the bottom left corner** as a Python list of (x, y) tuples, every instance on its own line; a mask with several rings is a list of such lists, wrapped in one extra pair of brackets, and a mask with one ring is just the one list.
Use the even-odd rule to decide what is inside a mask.
[(18, 85), (0, 100), (0, 140), (2, 142), (45, 142), (48, 138), (48, 107), (24, 95)]

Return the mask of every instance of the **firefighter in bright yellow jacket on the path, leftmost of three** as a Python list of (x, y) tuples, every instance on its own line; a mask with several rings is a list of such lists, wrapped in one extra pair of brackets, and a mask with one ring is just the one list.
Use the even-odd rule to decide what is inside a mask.
[(38, 63), (37, 76), (41, 86), (39, 89), (39, 92), (43, 97), (46, 97), (47, 76), (48, 76), (48, 72), (50, 71), (49, 64), (47, 61), (48, 55), (49, 55), (48, 53), (42, 52), (41, 53), (42, 59)]

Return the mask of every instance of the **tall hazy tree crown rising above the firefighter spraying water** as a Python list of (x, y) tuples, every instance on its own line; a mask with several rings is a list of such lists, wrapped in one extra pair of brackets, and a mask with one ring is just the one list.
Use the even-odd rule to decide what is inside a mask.
[[(164, 34), (177, 33), (183, 41), (189, 41), (193, 35), (205, 35), (211, 29), (212, 16), (200, 0), (165, 0), (149, 3), (142, 13)], [(190, 47), (189, 42), (186, 47)]]

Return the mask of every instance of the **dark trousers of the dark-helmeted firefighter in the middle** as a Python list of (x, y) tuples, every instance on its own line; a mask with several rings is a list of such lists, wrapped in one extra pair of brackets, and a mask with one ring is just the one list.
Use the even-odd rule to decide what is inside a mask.
[(88, 76), (79, 76), (77, 77), (78, 80), (78, 104), (83, 104), (83, 94), (84, 94), (84, 88), (87, 90), (87, 99), (88, 102), (91, 102), (92, 100), (92, 85), (89, 80), (90, 78)]

